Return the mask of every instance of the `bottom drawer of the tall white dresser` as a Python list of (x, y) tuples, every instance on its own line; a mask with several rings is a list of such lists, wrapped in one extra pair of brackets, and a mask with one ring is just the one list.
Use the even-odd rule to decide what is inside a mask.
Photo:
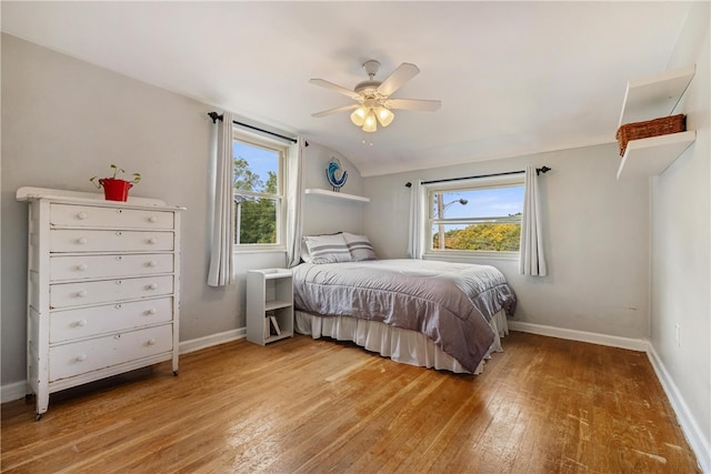
[(173, 349), (172, 324), (49, 349), (50, 382), (136, 361)]

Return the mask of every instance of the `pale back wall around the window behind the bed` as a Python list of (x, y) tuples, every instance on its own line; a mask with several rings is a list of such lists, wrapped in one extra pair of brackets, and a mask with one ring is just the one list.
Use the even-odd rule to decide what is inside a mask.
[(615, 144), (364, 179), (372, 202), (364, 230), (387, 258), (407, 256), (410, 190), (433, 180), (548, 165), (539, 178), (549, 275), (519, 275), (518, 260), (470, 260), (499, 268), (513, 286), (514, 320), (620, 337), (649, 334), (649, 184), (617, 181)]

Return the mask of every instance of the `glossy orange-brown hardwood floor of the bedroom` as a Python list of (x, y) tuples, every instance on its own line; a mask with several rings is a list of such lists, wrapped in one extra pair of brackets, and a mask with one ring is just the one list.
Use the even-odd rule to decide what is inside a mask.
[(694, 473), (643, 353), (524, 333), (484, 373), (297, 336), (2, 405), (3, 473)]

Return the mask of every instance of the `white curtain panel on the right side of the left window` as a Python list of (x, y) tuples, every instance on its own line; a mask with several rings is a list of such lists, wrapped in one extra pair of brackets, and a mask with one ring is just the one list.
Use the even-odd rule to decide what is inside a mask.
[(289, 147), (287, 163), (287, 265), (301, 261), (302, 199), (303, 199), (303, 139)]

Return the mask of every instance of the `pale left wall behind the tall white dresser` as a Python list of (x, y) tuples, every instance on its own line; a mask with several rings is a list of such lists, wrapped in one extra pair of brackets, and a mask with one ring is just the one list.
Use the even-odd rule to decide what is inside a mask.
[(228, 290), (207, 280), (212, 121), (208, 105), (2, 36), (2, 385), (26, 377), (27, 204), (24, 185), (99, 192), (110, 163), (142, 181), (132, 195), (184, 205), (180, 339), (244, 326), (248, 268), (284, 255), (246, 255)]

